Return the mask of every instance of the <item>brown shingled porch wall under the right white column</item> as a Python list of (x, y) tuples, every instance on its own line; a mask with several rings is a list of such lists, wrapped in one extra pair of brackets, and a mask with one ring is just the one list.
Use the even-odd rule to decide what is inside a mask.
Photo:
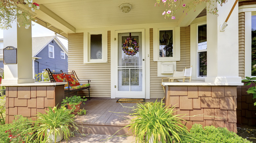
[[(236, 86), (168, 86), (165, 102), (167, 106), (176, 106), (176, 114), (187, 114), (183, 119), (188, 123), (182, 123), (189, 129), (192, 124), (199, 123), (203, 126), (226, 127), (236, 133), (236, 89)], [(205, 117), (191, 117), (199, 114)]]

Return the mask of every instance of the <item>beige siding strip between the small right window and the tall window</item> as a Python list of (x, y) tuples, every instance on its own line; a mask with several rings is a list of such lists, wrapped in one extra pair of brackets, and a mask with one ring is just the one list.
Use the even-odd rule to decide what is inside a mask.
[(181, 61), (177, 61), (176, 70), (182, 71), (190, 66), (190, 26), (181, 27)]

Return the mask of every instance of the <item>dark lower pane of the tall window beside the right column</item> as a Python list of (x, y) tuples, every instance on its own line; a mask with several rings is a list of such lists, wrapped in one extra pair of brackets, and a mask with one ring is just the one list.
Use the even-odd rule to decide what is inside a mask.
[(207, 75), (207, 52), (199, 52), (199, 76)]

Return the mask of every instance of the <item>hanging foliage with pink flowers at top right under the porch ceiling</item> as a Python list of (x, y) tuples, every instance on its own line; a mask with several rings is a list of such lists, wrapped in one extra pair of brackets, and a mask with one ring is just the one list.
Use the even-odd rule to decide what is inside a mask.
[(191, 0), (188, 3), (185, 3), (183, 0), (157, 0), (155, 3), (155, 6), (160, 4), (162, 2), (164, 4), (164, 7), (167, 7), (167, 9), (162, 13), (162, 15), (165, 15), (164, 18), (171, 17), (172, 19), (175, 19), (175, 13), (179, 9), (184, 9), (184, 11), (188, 12), (191, 9), (195, 10), (197, 5), (201, 5), (202, 3), (208, 2), (209, 5), (206, 7), (208, 13), (217, 14), (218, 9), (217, 8), (211, 8), (215, 2), (219, 3), (221, 6), (223, 3), (226, 3), (227, 0)]

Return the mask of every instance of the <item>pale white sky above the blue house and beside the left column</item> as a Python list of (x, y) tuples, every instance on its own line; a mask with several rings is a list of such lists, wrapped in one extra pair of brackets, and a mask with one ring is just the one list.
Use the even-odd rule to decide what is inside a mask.
[[(32, 21), (32, 37), (55, 36), (54, 32), (44, 26)], [(57, 37), (61, 43), (68, 49), (68, 40)], [(4, 39), (3, 30), (0, 29), (0, 39)]]

